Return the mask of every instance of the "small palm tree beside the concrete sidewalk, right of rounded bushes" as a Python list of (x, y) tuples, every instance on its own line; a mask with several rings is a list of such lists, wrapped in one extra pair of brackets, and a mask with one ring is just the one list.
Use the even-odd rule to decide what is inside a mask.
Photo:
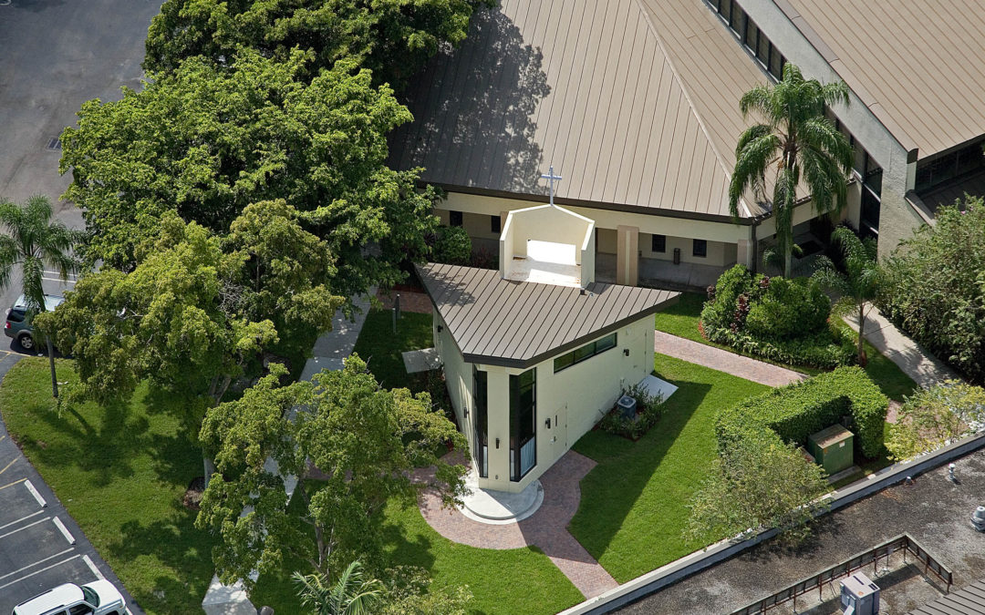
[(834, 312), (856, 316), (859, 321), (858, 359), (865, 365), (866, 357), (862, 347), (865, 333), (865, 315), (872, 309), (870, 301), (876, 298), (883, 279), (879, 266), (876, 241), (872, 238), (859, 239), (851, 228), (839, 226), (831, 233), (831, 240), (841, 247), (844, 257), (845, 273), (842, 274), (827, 257), (818, 260), (818, 271), (814, 278), (831, 290), (841, 294), (834, 304)]

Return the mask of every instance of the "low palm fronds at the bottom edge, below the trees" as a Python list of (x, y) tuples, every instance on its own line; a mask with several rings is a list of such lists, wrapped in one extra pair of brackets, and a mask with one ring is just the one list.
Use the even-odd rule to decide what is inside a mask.
[(311, 609), (312, 615), (361, 615), (383, 598), (383, 584), (367, 578), (359, 562), (350, 564), (334, 585), (320, 573), (295, 573), (294, 579), (301, 604)]

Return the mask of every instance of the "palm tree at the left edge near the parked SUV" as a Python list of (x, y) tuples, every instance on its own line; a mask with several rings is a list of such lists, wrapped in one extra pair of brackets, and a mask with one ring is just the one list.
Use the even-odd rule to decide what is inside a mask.
[[(82, 233), (52, 220), (51, 215), (51, 202), (43, 195), (34, 195), (24, 205), (0, 200), (0, 224), (6, 230), (0, 234), (0, 288), (10, 284), (14, 269), (20, 266), (28, 318), (45, 309), (41, 285), (45, 268), (57, 271), (62, 279), (68, 279), (69, 273), (78, 269), (72, 249), (82, 239)], [(51, 395), (57, 398), (54, 347), (51, 337), (45, 338), (51, 366)]]

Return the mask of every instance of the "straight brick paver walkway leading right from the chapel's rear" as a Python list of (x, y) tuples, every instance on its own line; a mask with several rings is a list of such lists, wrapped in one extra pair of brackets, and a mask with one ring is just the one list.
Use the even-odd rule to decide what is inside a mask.
[(784, 367), (757, 361), (748, 356), (690, 339), (678, 338), (662, 331), (654, 332), (653, 349), (660, 354), (697, 363), (768, 387), (782, 387), (807, 378), (804, 374)]

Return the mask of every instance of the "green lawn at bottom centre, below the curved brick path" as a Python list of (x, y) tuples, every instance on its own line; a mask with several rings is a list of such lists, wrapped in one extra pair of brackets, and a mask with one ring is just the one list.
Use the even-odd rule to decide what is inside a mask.
[[(454, 543), (434, 531), (412, 503), (391, 502), (383, 531), (391, 565), (427, 569), (432, 586), (468, 585), (474, 614), (549, 615), (584, 600), (536, 547), (494, 551)], [(295, 586), (287, 578), (261, 577), (250, 596), (253, 602), (278, 613), (300, 612)]]

